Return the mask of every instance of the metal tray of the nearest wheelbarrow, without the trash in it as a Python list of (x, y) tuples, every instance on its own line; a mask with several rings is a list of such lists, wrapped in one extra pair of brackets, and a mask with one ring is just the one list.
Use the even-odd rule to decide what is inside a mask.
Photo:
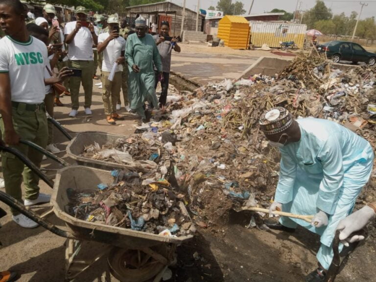
[(57, 217), (62, 219), (77, 239), (94, 240), (120, 248), (140, 249), (161, 243), (181, 244), (193, 235), (169, 237), (77, 219), (65, 212), (69, 204), (67, 189), (76, 191), (97, 189), (99, 183), (111, 183), (113, 177), (106, 170), (84, 166), (69, 166), (58, 171), (51, 203)]

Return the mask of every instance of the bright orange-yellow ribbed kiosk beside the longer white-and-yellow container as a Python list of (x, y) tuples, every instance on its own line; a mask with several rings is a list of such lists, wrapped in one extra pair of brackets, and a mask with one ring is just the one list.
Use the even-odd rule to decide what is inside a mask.
[(225, 46), (247, 49), (249, 45), (249, 23), (244, 17), (224, 16), (218, 23), (218, 38)]

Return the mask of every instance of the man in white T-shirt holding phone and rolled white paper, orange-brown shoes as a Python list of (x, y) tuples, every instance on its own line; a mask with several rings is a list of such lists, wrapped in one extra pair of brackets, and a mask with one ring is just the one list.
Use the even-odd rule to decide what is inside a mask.
[[(124, 120), (116, 112), (116, 104), (120, 100), (122, 64), (125, 62), (125, 39), (119, 36), (118, 15), (111, 15), (107, 20), (109, 32), (99, 34), (98, 53), (103, 53), (102, 62), (102, 98), (104, 113), (109, 124), (116, 124), (116, 120)], [(109, 80), (110, 72), (117, 64), (112, 81)]]

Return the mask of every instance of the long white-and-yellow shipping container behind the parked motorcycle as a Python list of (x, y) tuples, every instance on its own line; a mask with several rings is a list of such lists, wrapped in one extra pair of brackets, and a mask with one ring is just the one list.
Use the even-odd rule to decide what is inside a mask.
[(251, 43), (255, 47), (267, 44), (269, 47), (280, 47), (280, 42), (294, 41), (299, 48), (303, 48), (305, 24), (285, 24), (273, 22), (249, 22), (251, 27)]

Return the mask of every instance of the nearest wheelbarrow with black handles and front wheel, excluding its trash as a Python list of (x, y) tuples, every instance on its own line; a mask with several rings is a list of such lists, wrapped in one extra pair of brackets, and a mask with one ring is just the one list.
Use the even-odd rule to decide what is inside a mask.
[[(38, 146), (36, 148), (40, 150)], [(15, 154), (45, 180), (44, 173), (16, 149), (0, 145), (0, 150)], [(48, 157), (51, 155), (47, 151), (44, 153)], [(50, 187), (52, 186), (48, 178), (45, 181)], [(108, 170), (85, 166), (67, 166), (59, 170), (53, 183), (51, 203), (55, 215), (64, 221), (65, 229), (48, 223), (35, 212), (27, 210), (22, 203), (1, 191), (0, 201), (20, 211), (54, 234), (67, 238), (65, 243), (65, 281), (71, 281), (99, 258), (106, 255), (112, 274), (121, 282), (144, 282), (153, 277), (156, 277), (154, 281), (160, 281), (165, 268), (176, 261), (176, 246), (191, 239), (193, 235), (172, 237), (150, 234), (80, 220), (65, 211), (69, 203), (68, 188), (78, 192), (83, 190), (87, 192), (90, 189), (96, 189), (98, 183), (112, 182), (113, 176)], [(184, 205), (180, 205), (180, 209), (182, 213), (188, 215)], [(105, 243), (108, 248), (90, 260), (77, 260), (76, 257), (81, 250), (81, 241), (83, 240)]]

